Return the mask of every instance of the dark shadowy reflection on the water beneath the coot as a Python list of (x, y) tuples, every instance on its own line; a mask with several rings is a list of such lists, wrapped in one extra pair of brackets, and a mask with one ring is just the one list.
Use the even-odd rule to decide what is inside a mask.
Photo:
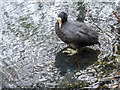
[(86, 47), (78, 54), (71, 56), (68, 55), (68, 53), (63, 53), (67, 48), (62, 49), (56, 55), (55, 66), (60, 69), (61, 75), (64, 75), (68, 70), (83, 70), (97, 61), (99, 54), (99, 51), (97, 50)]

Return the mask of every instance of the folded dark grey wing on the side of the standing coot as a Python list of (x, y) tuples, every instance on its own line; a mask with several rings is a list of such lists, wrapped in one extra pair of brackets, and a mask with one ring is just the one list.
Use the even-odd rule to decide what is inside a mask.
[(80, 22), (72, 22), (71, 25), (69, 24), (69, 30), (66, 31), (66, 33), (69, 33), (66, 37), (74, 43), (94, 44), (98, 38), (95, 31)]

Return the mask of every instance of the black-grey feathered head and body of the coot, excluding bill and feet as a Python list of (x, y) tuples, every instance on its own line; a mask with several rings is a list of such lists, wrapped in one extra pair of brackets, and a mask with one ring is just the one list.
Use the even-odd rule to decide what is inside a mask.
[(62, 20), (62, 25), (59, 27), (59, 21), (55, 24), (55, 31), (58, 37), (66, 44), (75, 49), (84, 46), (90, 46), (98, 43), (98, 33), (92, 30), (83, 22), (68, 21), (67, 14), (61, 12), (58, 17)]

